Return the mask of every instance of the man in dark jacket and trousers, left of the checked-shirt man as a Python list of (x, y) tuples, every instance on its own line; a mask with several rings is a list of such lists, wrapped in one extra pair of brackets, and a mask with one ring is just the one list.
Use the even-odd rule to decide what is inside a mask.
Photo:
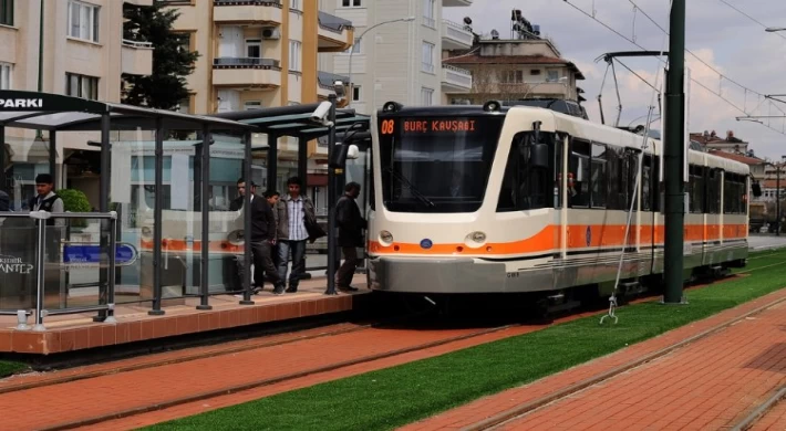
[[(246, 196), (246, 180), (240, 178), (237, 181), (239, 197), (229, 206), (230, 211), (238, 211), (242, 208)], [(254, 293), (258, 294), (265, 285), (265, 274), (273, 283), (273, 293), (283, 293), (283, 283), (278, 275), (278, 271), (271, 260), (271, 250), (276, 243), (276, 219), (273, 211), (267, 199), (255, 193), (257, 185), (251, 181), (251, 254), (254, 255)], [(278, 293), (280, 294), (280, 293)]]

